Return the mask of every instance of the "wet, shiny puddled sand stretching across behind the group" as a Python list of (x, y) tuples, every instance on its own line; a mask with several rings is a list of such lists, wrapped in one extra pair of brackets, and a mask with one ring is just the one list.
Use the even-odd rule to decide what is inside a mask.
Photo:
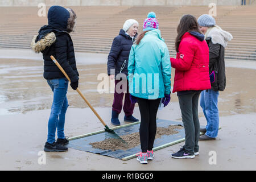
[[(97, 80), (106, 73), (106, 64), (77, 65), (80, 74), (79, 89), (92, 106), (111, 107), (113, 94), (100, 94)], [(174, 83), (172, 69), (172, 86)], [(255, 112), (255, 69), (226, 68), (226, 89), (220, 92), (220, 115)], [(43, 78), (43, 61), (0, 59), (0, 115), (26, 113), (27, 111), (51, 109), (53, 94)], [(68, 89), (69, 107), (88, 107), (79, 94)], [(171, 102), (178, 102), (176, 93)], [(171, 104), (171, 103), (170, 103)]]

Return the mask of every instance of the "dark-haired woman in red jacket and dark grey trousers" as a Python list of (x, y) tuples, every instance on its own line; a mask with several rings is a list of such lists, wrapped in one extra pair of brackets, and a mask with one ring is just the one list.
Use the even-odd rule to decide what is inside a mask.
[(209, 48), (192, 15), (183, 15), (177, 27), (174, 90), (179, 97), (185, 129), (185, 145), (172, 158), (195, 158), (199, 154), (200, 123), (198, 101), (201, 90), (210, 89)]

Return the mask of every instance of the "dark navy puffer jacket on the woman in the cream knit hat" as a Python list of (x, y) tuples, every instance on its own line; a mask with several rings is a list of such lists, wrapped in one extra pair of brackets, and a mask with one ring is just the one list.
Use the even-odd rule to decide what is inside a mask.
[[(108, 56), (108, 75), (110, 75), (110, 69), (115, 69), (115, 76), (120, 72), (127, 76), (128, 59), (131, 46), (133, 46), (134, 41), (135, 38), (133, 39), (129, 35), (125, 34), (123, 29), (120, 30), (119, 35), (113, 40), (112, 47)], [(121, 71), (122, 67), (123, 69)]]

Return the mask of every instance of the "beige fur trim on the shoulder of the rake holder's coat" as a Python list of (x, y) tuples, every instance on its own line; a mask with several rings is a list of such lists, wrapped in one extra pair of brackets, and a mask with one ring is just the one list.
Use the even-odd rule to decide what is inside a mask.
[(51, 46), (56, 41), (56, 36), (54, 32), (48, 33), (44, 38), (40, 39), (38, 42), (36, 42), (37, 35), (34, 36), (31, 42), (31, 48), (32, 51), (39, 53), (46, 49), (46, 47)]

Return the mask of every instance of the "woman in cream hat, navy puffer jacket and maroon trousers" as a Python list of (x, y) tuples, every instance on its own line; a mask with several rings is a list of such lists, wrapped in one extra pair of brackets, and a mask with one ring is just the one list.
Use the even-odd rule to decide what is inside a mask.
[[(139, 23), (134, 19), (128, 19), (123, 24), (119, 35), (114, 38), (112, 47), (108, 56), (108, 75), (111, 79), (115, 78), (115, 92), (114, 101), (112, 105), (112, 119), (113, 125), (120, 125), (118, 115), (121, 113), (122, 107), (125, 111), (124, 121), (137, 122), (138, 119), (133, 117), (134, 104), (130, 101), (130, 94), (128, 93), (127, 65), (130, 54), (130, 49), (137, 36)], [(125, 78), (125, 79), (122, 79)], [(125, 94), (125, 103), (123, 105), (123, 95)]]

